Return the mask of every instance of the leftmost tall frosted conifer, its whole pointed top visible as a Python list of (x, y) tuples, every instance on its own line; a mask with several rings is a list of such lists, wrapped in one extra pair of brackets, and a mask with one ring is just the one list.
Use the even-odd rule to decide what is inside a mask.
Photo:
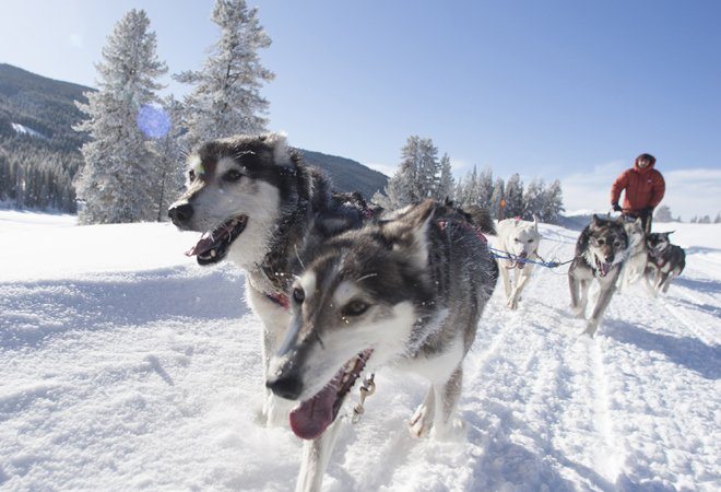
[(75, 178), (81, 223), (115, 223), (155, 218), (155, 162), (139, 127), (141, 108), (157, 101), (156, 79), (167, 72), (155, 54), (155, 33), (145, 11), (131, 10), (115, 26), (96, 65), (98, 91), (76, 103), (87, 119), (85, 165)]

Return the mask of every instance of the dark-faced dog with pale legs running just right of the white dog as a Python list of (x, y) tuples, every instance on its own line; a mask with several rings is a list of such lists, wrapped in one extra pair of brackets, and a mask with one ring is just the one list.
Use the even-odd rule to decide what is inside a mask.
[(568, 269), (571, 311), (579, 318), (586, 317), (589, 288), (595, 279), (600, 285), (599, 300), (584, 331), (591, 337), (599, 328), (603, 313), (616, 290), (616, 280), (626, 258), (627, 248), (628, 235), (623, 218), (605, 220), (594, 214), (591, 223), (578, 237), (576, 258)]

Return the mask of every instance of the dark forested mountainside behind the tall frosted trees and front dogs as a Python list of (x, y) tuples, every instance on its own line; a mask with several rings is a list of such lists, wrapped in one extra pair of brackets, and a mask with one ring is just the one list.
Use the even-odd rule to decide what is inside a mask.
[[(0, 63), (0, 206), (75, 212), (72, 179), (82, 166), (86, 136), (75, 101), (92, 87), (57, 81)], [(300, 150), (339, 191), (370, 198), (388, 178), (350, 159)]]

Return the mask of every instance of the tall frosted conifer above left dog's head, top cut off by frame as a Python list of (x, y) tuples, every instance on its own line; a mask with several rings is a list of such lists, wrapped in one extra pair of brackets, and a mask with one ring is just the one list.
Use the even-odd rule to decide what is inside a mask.
[(268, 125), (268, 101), (260, 95), (273, 72), (263, 68), (258, 50), (271, 44), (258, 21), (258, 9), (245, 0), (216, 0), (211, 20), (221, 38), (202, 69), (175, 75), (192, 90), (185, 98), (187, 147), (236, 133), (261, 133)]

